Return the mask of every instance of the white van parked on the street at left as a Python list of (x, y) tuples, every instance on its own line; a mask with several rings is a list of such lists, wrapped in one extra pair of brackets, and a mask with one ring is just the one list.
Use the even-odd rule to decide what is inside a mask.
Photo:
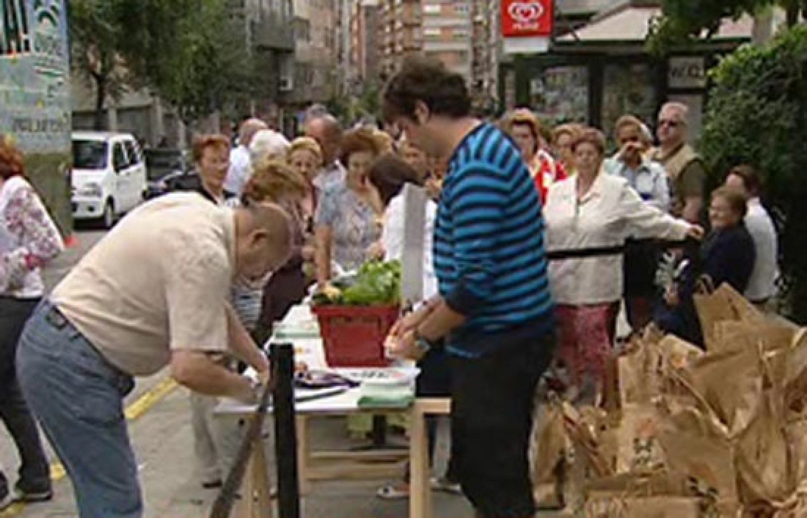
[(146, 165), (135, 137), (73, 132), (73, 219), (111, 228), (118, 215), (144, 200), (146, 190)]

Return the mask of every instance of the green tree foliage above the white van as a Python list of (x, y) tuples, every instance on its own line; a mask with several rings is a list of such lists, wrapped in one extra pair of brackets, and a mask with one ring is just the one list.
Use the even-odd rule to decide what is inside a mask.
[(96, 86), (96, 127), (107, 96), (148, 86), (183, 120), (249, 96), (253, 59), (220, 0), (73, 0), (73, 67)]

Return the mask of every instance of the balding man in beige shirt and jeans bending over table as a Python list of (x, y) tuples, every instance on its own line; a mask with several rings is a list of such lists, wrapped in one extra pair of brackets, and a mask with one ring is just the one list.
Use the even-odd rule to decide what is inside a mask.
[(133, 377), (169, 366), (193, 391), (255, 399), (249, 378), (216, 362), (231, 353), (268, 377), (228, 293), (236, 276), (259, 282), (290, 253), (276, 205), (169, 194), (124, 218), (40, 304), (19, 343), (19, 381), (82, 518), (142, 515), (122, 405)]

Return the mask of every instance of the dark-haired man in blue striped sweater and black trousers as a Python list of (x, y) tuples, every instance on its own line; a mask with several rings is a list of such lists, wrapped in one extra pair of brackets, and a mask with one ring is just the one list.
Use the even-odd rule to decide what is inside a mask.
[(515, 144), (470, 115), (464, 79), (439, 61), (404, 62), (384, 111), (417, 147), (450, 157), (434, 234), (440, 295), (396, 324), (388, 347), (416, 359), (445, 338), (462, 491), (479, 516), (533, 516), (533, 393), (554, 349), (537, 190)]

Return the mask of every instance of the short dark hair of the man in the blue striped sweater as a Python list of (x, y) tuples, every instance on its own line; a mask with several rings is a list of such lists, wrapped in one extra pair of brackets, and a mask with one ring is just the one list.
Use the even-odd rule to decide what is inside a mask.
[(416, 102), (423, 102), (433, 115), (459, 119), (470, 115), (470, 95), (465, 78), (453, 73), (437, 58), (412, 56), (384, 91), (384, 119), (415, 118)]

